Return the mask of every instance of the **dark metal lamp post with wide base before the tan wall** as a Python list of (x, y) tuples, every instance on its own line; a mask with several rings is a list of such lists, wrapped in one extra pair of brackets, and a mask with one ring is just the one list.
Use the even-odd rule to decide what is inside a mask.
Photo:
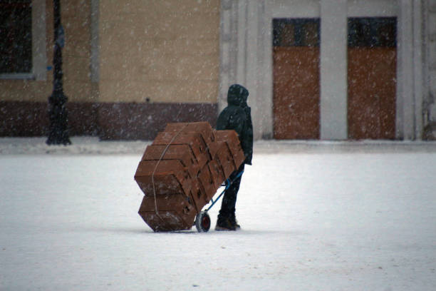
[(68, 112), (66, 102), (68, 98), (63, 94), (62, 82), (62, 48), (65, 42), (61, 25), (60, 0), (53, 0), (54, 11), (54, 52), (53, 52), (53, 92), (48, 97), (48, 118), (50, 129), (46, 143), (48, 145), (70, 145), (68, 136)]

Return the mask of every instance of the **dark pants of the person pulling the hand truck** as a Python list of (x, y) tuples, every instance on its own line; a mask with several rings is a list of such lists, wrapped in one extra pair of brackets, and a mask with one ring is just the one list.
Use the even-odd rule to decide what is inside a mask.
[(242, 173), (244, 172), (244, 163), (239, 166), (239, 169), (230, 174), (229, 180), (233, 181), (229, 185), (229, 180), (226, 180), (226, 190), (222, 198), (221, 210), (219, 210), (219, 217), (222, 219), (231, 218), (235, 211), (239, 185), (241, 184)]

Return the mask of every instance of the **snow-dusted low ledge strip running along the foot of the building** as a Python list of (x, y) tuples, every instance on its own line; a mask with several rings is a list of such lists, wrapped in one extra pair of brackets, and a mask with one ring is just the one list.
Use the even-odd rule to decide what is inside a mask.
[[(1, 155), (142, 155), (151, 141), (72, 137), (71, 146), (47, 146), (46, 137), (0, 138)], [(436, 141), (256, 141), (258, 154), (436, 153)]]

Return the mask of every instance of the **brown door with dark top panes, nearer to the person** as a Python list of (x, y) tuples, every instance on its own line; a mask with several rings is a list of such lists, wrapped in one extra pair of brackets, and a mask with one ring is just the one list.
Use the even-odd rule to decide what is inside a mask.
[(276, 139), (319, 139), (318, 31), (318, 19), (274, 19)]

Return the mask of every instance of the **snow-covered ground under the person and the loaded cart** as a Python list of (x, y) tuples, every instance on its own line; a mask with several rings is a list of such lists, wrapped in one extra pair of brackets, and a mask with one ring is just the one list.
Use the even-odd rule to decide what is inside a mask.
[(241, 231), (152, 233), (146, 142), (44, 141), (0, 138), (0, 290), (436, 290), (436, 143), (259, 141)]

